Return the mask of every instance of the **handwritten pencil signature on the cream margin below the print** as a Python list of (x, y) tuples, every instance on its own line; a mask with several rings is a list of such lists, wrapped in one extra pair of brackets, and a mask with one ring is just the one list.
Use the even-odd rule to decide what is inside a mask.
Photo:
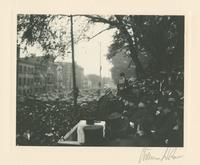
[(175, 160), (180, 159), (183, 157), (183, 155), (177, 155), (177, 148), (165, 148), (164, 152), (160, 156), (155, 156), (151, 153), (151, 149), (149, 148), (143, 148), (142, 152), (139, 157), (138, 163), (147, 161), (147, 160)]

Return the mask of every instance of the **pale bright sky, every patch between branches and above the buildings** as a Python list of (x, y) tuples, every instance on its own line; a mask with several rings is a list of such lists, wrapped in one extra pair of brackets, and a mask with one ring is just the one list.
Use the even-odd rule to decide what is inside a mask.
[[(84, 24), (84, 18), (74, 20), (74, 36), (78, 33), (79, 28), (81, 28), (82, 24)], [(56, 28), (60, 28), (61, 26), (68, 26), (67, 33), (70, 33), (69, 24), (65, 25), (64, 23), (67, 21), (62, 21), (56, 23)], [(94, 24), (90, 27), (87, 35), (92, 37), (101, 30), (107, 27), (104, 24), (98, 23)], [(112, 68), (112, 64), (106, 59), (106, 54), (108, 53), (108, 48), (112, 43), (113, 34), (115, 33), (116, 29), (107, 30), (103, 33), (97, 35), (91, 40), (82, 40), (74, 45), (74, 54), (75, 54), (75, 61), (78, 65), (84, 68), (84, 74), (96, 74), (100, 75), (100, 54), (101, 54), (101, 66), (102, 77), (111, 77), (110, 69)], [(41, 54), (41, 49), (39, 47), (34, 46), (28, 49), (30, 53)], [(100, 53), (101, 52), (101, 53)], [(68, 51), (65, 54), (65, 58), (57, 58), (57, 61), (67, 61), (71, 62), (71, 53)]]

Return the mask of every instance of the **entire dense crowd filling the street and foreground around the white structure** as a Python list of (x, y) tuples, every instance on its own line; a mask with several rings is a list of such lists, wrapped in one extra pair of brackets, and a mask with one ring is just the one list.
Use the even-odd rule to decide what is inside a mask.
[(129, 122), (126, 137), (146, 137), (150, 146), (183, 146), (183, 72), (160, 75), (132, 80), (122, 73), (117, 91), (106, 89), (101, 97), (82, 91), (77, 106), (64, 96), (17, 101), (16, 143), (56, 145), (79, 120), (107, 121), (118, 113)]

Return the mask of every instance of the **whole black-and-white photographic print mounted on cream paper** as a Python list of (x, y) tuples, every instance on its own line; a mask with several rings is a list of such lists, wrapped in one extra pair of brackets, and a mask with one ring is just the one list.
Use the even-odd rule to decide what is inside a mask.
[(16, 22), (16, 146), (184, 147), (184, 15)]

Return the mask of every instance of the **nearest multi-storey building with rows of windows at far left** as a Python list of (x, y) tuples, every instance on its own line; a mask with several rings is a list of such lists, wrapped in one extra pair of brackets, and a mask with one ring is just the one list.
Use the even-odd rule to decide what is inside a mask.
[(36, 55), (17, 57), (17, 94), (30, 95), (54, 89), (56, 78), (51, 58)]

